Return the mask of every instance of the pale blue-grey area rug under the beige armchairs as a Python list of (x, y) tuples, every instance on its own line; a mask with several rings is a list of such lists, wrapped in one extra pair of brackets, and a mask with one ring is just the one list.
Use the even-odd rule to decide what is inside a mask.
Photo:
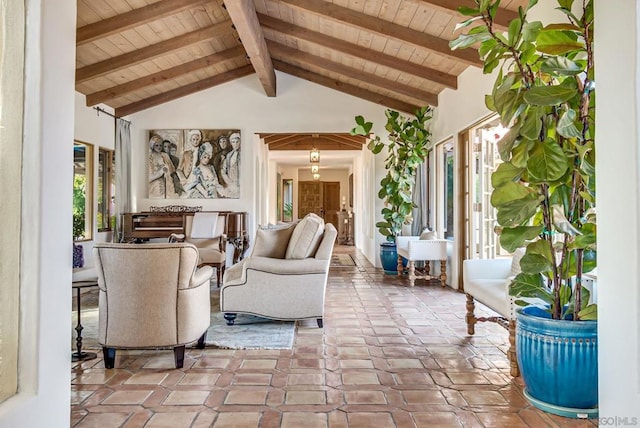
[[(215, 287), (215, 286), (214, 286)], [(224, 349), (291, 349), (295, 337), (295, 322), (274, 321), (239, 314), (235, 324), (228, 326), (220, 309), (220, 290), (211, 291), (211, 325), (207, 330), (207, 346)], [(98, 291), (82, 295), (82, 349), (102, 349), (98, 343)], [(71, 317), (71, 349), (76, 351), (77, 312)]]

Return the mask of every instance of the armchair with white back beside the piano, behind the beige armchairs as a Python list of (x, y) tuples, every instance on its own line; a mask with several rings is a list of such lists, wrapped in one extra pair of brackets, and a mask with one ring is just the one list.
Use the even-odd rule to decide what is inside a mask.
[(184, 216), (184, 235), (172, 234), (169, 242), (189, 242), (198, 248), (198, 266), (216, 268), (220, 287), (226, 264), (227, 240), (224, 235), (226, 216), (217, 212), (197, 212)]

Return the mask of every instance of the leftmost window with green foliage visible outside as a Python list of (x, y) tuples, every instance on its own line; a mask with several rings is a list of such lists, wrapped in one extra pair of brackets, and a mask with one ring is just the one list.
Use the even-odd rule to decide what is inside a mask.
[(92, 239), (93, 146), (73, 143), (73, 240)]

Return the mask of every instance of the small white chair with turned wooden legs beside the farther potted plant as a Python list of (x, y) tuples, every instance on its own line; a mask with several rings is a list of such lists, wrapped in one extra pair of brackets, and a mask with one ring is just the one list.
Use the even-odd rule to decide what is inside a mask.
[[(423, 239), (420, 236), (398, 236), (396, 251), (398, 252), (398, 276), (402, 275), (404, 257), (407, 259), (409, 270), (409, 285), (414, 286), (417, 278), (429, 280), (431, 275), (431, 261), (440, 261), (440, 284), (444, 287), (447, 282), (447, 240)], [(423, 269), (416, 269), (416, 262), (424, 262)]]

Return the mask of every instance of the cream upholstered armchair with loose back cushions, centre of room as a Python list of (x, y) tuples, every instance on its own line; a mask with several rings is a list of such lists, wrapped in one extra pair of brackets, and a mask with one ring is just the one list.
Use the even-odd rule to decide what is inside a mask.
[(316, 319), (323, 325), (324, 296), (338, 232), (313, 214), (296, 225), (258, 230), (251, 255), (227, 269), (220, 310), (277, 320)]

